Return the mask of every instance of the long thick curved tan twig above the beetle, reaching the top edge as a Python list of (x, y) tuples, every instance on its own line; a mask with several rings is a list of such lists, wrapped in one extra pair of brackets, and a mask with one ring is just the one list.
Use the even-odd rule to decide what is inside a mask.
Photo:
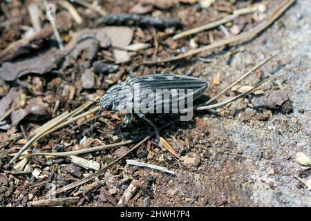
[(267, 21), (260, 23), (258, 26), (256, 26), (255, 28), (252, 28), (252, 30), (249, 30), (248, 32), (241, 33), (240, 35), (236, 35), (228, 39), (222, 39), (220, 41), (215, 41), (213, 44), (202, 46), (194, 50), (189, 50), (188, 52), (185, 52), (181, 55), (169, 57), (167, 59), (158, 59), (158, 61), (144, 61), (144, 64), (156, 64), (156, 63), (162, 63), (162, 62), (177, 61), (179, 59), (183, 59), (191, 55), (196, 55), (200, 52), (205, 52), (207, 50), (212, 50), (214, 48), (220, 48), (222, 46), (227, 46), (229, 44), (238, 44), (238, 43), (242, 43), (250, 39), (253, 39), (258, 34), (263, 32), (263, 30), (269, 27), (274, 21), (276, 21), (276, 19), (278, 19), (283, 14), (283, 12), (285, 12), (285, 10), (290, 8), (290, 6), (292, 6), (292, 3), (294, 3), (295, 1), (296, 0), (283, 1), (281, 6), (276, 8), (276, 10), (274, 10), (274, 12), (270, 14)]

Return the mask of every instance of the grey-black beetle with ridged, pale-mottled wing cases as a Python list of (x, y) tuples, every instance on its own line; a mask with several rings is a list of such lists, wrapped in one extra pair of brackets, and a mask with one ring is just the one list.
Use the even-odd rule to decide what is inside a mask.
[(208, 86), (206, 81), (196, 77), (168, 72), (135, 77), (119, 81), (109, 88), (100, 98), (100, 111), (127, 111), (126, 124), (129, 124), (131, 115), (135, 113), (154, 128), (158, 141), (158, 127), (147, 119), (145, 114), (180, 114), (192, 111), (192, 102), (200, 97)]

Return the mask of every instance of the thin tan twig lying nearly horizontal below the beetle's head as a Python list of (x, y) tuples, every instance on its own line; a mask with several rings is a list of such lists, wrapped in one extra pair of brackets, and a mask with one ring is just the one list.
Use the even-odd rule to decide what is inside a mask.
[(107, 145), (102, 145), (102, 146), (95, 146), (95, 147), (85, 148), (85, 149), (77, 150), (77, 151), (67, 151), (67, 152), (60, 152), (60, 153), (32, 153), (30, 154), (30, 157), (37, 156), (37, 155), (66, 157), (68, 155), (79, 155), (79, 154), (91, 153), (91, 152), (96, 152), (96, 151), (104, 151), (109, 148), (115, 148), (118, 146), (124, 146), (126, 144), (132, 144), (132, 143), (133, 143), (133, 140), (126, 140), (124, 142), (119, 142), (115, 144), (107, 144)]

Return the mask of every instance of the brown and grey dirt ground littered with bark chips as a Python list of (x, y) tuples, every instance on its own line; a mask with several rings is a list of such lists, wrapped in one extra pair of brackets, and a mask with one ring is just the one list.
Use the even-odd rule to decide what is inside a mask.
[[(111, 12), (129, 12), (137, 2), (116, 1), (113, 4), (109, 1), (106, 5), (104, 3), (102, 5), (107, 11), (111, 9)], [(247, 1), (227, 2), (233, 2), (233, 7), (247, 6)], [(281, 1), (268, 1), (268, 9), (273, 9), (279, 2)], [(212, 5), (208, 10), (198, 9), (198, 3), (178, 3), (177, 6), (165, 10), (153, 6), (153, 11), (147, 15), (179, 17), (185, 27), (192, 28), (213, 21), (214, 19), (211, 18), (213, 16), (218, 18), (220, 14), (214, 12), (216, 6)], [(84, 11), (85, 8), (78, 7), (78, 12)], [(184, 14), (180, 15), (180, 13)], [(117, 64), (116, 74), (104, 75), (104, 77), (95, 75), (93, 88), (83, 86), (81, 73), (77, 67), (87, 56), (82, 56), (77, 64), (70, 68), (56, 68), (56, 70), (48, 70), (43, 75), (28, 74), (10, 81), (2, 80), (2, 99), (8, 94), (10, 88), (17, 88), (18, 93), (23, 94), (23, 98), (19, 99), (24, 102), (24, 105), (18, 106), (17, 109), (25, 109), (26, 104), (33, 97), (39, 97), (41, 101), (48, 104), (48, 108), (47, 113), (37, 114), (41, 118), (33, 118), (33, 116), (31, 118), (28, 115), (15, 126), (12, 124), (12, 116), (5, 119), (10, 128), (1, 128), (0, 131), (0, 205), (30, 206), (28, 202), (44, 199), (50, 188), (48, 184), (55, 184), (57, 188), (61, 188), (95, 172), (70, 163), (70, 160), (64, 157), (53, 158), (59, 161), (52, 165), (46, 164), (46, 160), (50, 159), (47, 157), (26, 158), (31, 171), (34, 169), (41, 171), (39, 178), (31, 172), (14, 173), (16, 164), (23, 157), (8, 166), (12, 153), (16, 153), (29, 137), (32, 137), (31, 131), (64, 111), (73, 111), (84, 104), (85, 100), (82, 97), (88, 97), (89, 94), (93, 95), (90, 98), (102, 95), (118, 79), (124, 80), (126, 75), (140, 76), (169, 70), (178, 75), (187, 74), (209, 81), (211, 86), (200, 99), (202, 102), (207, 97), (219, 93), (272, 52), (281, 50), (272, 61), (257, 72), (257, 75), (251, 75), (241, 84), (254, 85), (258, 82), (259, 75), (285, 74), (265, 84), (261, 89), (286, 91), (292, 104), (292, 111), (289, 113), (282, 113), (280, 108), (254, 108), (251, 105), (254, 104), (252, 99), (256, 99), (254, 95), (234, 101), (217, 110), (195, 113), (191, 122), (179, 122), (161, 132), (161, 136), (178, 153), (179, 160), (164, 148), (156, 146), (151, 140), (93, 180), (93, 182), (102, 180), (104, 183), (91, 191), (75, 195), (79, 191), (79, 186), (57, 195), (57, 198), (77, 196), (78, 200), (70, 204), (71, 206), (115, 206), (133, 182), (132, 180), (137, 180), (140, 183), (139, 187), (131, 200), (126, 202), (126, 206), (311, 206), (310, 189), (303, 184), (310, 181), (310, 166), (303, 166), (296, 159), (297, 152), (303, 152), (311, 157), (310, 13), (311, 2), (298, 0), (272, 26), (245, 44), (222, 48), (211, 55), (200, 54), (186, 61), (161, 65), (142, 65), (141, 61), (155, 56), (168, 57), (172, 53), (176, 55), (184, 50), (187, 51), (192, 37), (199, 46), (208, 44), (210, 39), (207, 37), (207, 32), (180, 41), (166, 41), (167, 36), (171, 36), (171, 32), (177, 32), (178, 28), (159, 30), (130, 26), (135, 30), (133, 34), (135, 42), (151, 43), (151, 48), (141, 52), (131, 52), (131, 61)], [(82, 27), (94, 28), (93, 20), (99, 15), (88, 12), (85, 17), (90, 19), (86, 19)], [(4, 18), (5, 16), (1, 15), (1, 22), (6, 20)], [(250, 19), (252, 20), (251, 17)], [(24, 22), (31, 26), (29, 19)], [(255, 24), (256, 21), (247, 20), (245, 29)], [(77, 31), (82, 27), (73, 24), (70, 30)], [(17, 41), (21, 37), (19, 32), (13, 34), (7, 29), (2, 29), (1, 50)], [(219, 28), (211, 32), (216, 39), (223, 35)], [(158, 39), (154, 38), (155, 33)], [(66, 39), (66, 33), (61, 31), (61, 34), (63, 39)], [(155, 52), (155, 47), (158, 47), (158, 53)], [(104, 60), (113, 64), (112, 49), (103, 51), (105, 52), (97, 54), (93, 60)], [(219, 76), (220, 84), (216, 84)], [(43, 86), (36, 89), (35, 80), (41, 82)], [(25, 84), (21, 84), (21, 81)], [(64, 87), (68, 85), (76, 88), (74, 99), (71, 100), (62, 97)], [(218, 102), (234, 95), (236, 93), (229, 91), (218, 99)], [(57, 100), (59, 106), (55, 108)], [(94, 116), (91, 115), (51, 133), (31, 146), (30, 151), (26, 153), (29, 155), (35, 152), (71, 151), (81, 149), (83, 146), (81, 140), (86, 138), (92, 142), (84, 148), (125, 141), (152, 131), (152, 128), (148, 128), (139, 119), (133, 120), (131, 128), (120, 128), (124, 123), (124, 115), (104, 113), (95, 124), (94, 131), (90, 133), (89, 128)], [(156, 117), (153, 120), (158, 126), (162, 126), (171, 119), (171, 117)], [(133, 145), (78, 156), (106, 165)], [(129, 166), (126, 165), (125, 159), (163, 166), (175, 171), (176, 175)], [(92, 181), (88, 182), (90, 183)]]

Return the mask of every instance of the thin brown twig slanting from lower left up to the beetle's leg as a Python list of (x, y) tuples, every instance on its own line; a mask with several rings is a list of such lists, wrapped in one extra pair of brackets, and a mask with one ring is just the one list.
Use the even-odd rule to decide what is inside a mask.
[[(164, 126), (162, 126), (160, 128), (163, 129), (163, 128), (166, 128), (167, 126), (170, 126), (171, 124), (173, 124), (175, 121), (172, 121), (172, 122), (169, 122), (167, 124), (165, 124)], [(80, 186), (82, 184), (85, 184), (86, 182), (90, 181), (90, 180), (93, 180), (95, 177), (98, 177), (100, 175), (102, 175), (102, 173), (104, 173), (107, 169), (109, 169), (111, 166), (115, 165), (117, 162), (119, 162), (120, 160), (122, 160), (124, 157), (126, 157), (127, 155), (129, 155), (130, 153), (132, 153), (133, 151), (135, 151), (136, 149), (138, 149), (140, 147), (140, 145), (142, 145), (144, 142), (146, 142), (147, 140), (149, 140), (149, 138), (151, 138), (153, 135), (155, 135), (156, 133), (153, 132), (151, 133), (150, 135), (148, 135), (147, 137), (144, 137), (143, 140), (141, 140), (140, 142), (138, 142), (138, 144), (135, 144), (135, 146), (133, 146), (133, 148), (131, 148), (129, 151), (127, 151), (126, 153), (124, 153), (124, 155), (122, 155), (121, 157), (117, 158), (117, 160), (111, 162), (110, 164), (108, 164), (107, 166), (105, 166), (104, 168), (100, 169), (100, 171), (97, 171), (95, 173), (93, 173), (92, 175), (89, 175), (88, 177), (84, 177), (82, 180), (78, 180), (76, 182), (73, 182), (71, 184), (68, 184), (67, 186), (64, 186), (60, 189), (57, 189), (55, 191), (55, 194), (59, 194), (59, 193), (63, 193), (65, 191), (68, 191), (70, 189), (73, 189), (77, 186)]]

